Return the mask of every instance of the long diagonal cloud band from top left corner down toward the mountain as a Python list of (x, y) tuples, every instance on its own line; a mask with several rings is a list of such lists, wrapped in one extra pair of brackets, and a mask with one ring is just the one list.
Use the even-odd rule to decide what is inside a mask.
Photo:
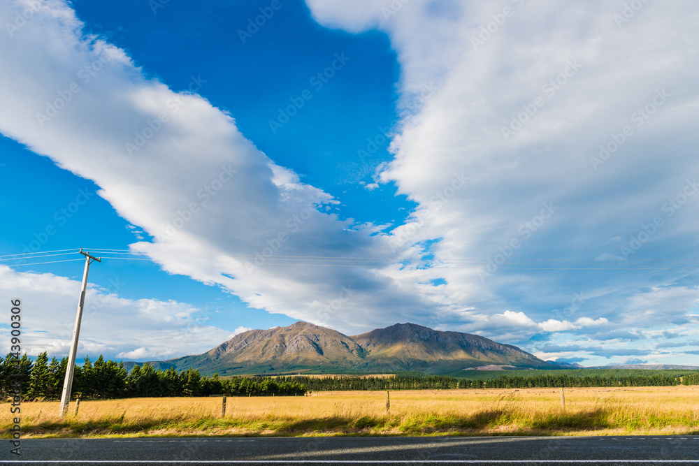
[[(0, 22), (27, 4), (3, 3)], [(146, 78), (122, 50), (81, 28), (73, 10), (53, 0), (0, 43), (0, 61), (13, 64), (0, 76), (0, 131), (94, 180), (129, 224), (156, 238), (136, 242), (135, 251), (252, 307), (346, 331), (432, 312), (435, 303), (397, 276), (399, 265), (284, 265), (285, 256), (382, 259), (405, 248), (391, 248), (375, 234), (380, 227), (326, 212), (338, 201), (273, 163), (226, 112)], [(99, 68), (87, 82), (76, 72), (86, 66)], [(192, 77), (191, 89), (203, 91), (204, 80)], [(61, 107), (55, 115), (52, 106)], [(336, 312), (347, 286), (352, 298)]]

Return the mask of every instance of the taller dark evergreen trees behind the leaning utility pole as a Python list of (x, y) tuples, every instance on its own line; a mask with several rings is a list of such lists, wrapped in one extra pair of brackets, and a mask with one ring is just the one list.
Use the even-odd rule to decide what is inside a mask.
[[(22, 396), (27, 399), (61, 397), (68, 358), (58, 361), (44, 352), (36, 361), (24, 354), (0, 358), (0, 393), (12, 393), (12, 383), (22, 382)], [(17, 375), (18, 374), (18, 375)], [(71, 398), (135, 398), (164, 396), (264, 396), (304, 395), (306, 389), (298, 381), (261, 378), (230, 380), (201, 377), (198, 370), (177, 372), (173, 368), (156, 370), (149, 363), (134, 366), (127, 372), (123, 363), (105, 361), (102, 355), (94, 363), (85, 356), (85, 364), (75, 366)]]

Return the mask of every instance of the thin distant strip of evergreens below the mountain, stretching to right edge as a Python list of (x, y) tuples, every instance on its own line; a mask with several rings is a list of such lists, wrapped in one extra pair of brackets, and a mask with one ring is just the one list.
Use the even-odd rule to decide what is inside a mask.
[(617, 387), (675, 386), (699, 384), (699, 374), (685, 375), (682, 381), (670, 374), (634, 374), (622, 376), (584, 376), (569, 374), (501, 375), (497, 379), (459, 379), (439, 375), (407, 377), (284, 377), (297, 380), (312, 391), (352, 390), (438, 390), (447, 388), (546, 388), (546, 387)]

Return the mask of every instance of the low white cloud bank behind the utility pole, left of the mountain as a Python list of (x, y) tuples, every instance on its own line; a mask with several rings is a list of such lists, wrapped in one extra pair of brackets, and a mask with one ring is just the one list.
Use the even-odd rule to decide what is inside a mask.
[[(17, 272), (0, 265), (0, 299), (22, 300), (22, 351), (27, 354), (48, 351), (50, 356), (68, 355), (79, 292), (79, 280)], [(206, 310), (187, 303), (130, 300), (91, 286), (85, 296), (78, 358), (105, 354), (110, 358), (166, 359), (200, 354), (232, 336), (208, 325), (207, 320)], [(8, 328), (8, 323), (0, 327)], [(9, 340), (2, 342), (1, 351), (9, 351)]]

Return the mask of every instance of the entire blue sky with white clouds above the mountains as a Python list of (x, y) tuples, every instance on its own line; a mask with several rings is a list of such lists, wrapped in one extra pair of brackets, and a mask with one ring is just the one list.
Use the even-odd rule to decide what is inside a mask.
[(0, 293), (28, 351), (67, 353), (83, 247), (115, 259), (82, 354), (411, 321), (696, 363), (696, 8), (634, 6), (7, 2)]

